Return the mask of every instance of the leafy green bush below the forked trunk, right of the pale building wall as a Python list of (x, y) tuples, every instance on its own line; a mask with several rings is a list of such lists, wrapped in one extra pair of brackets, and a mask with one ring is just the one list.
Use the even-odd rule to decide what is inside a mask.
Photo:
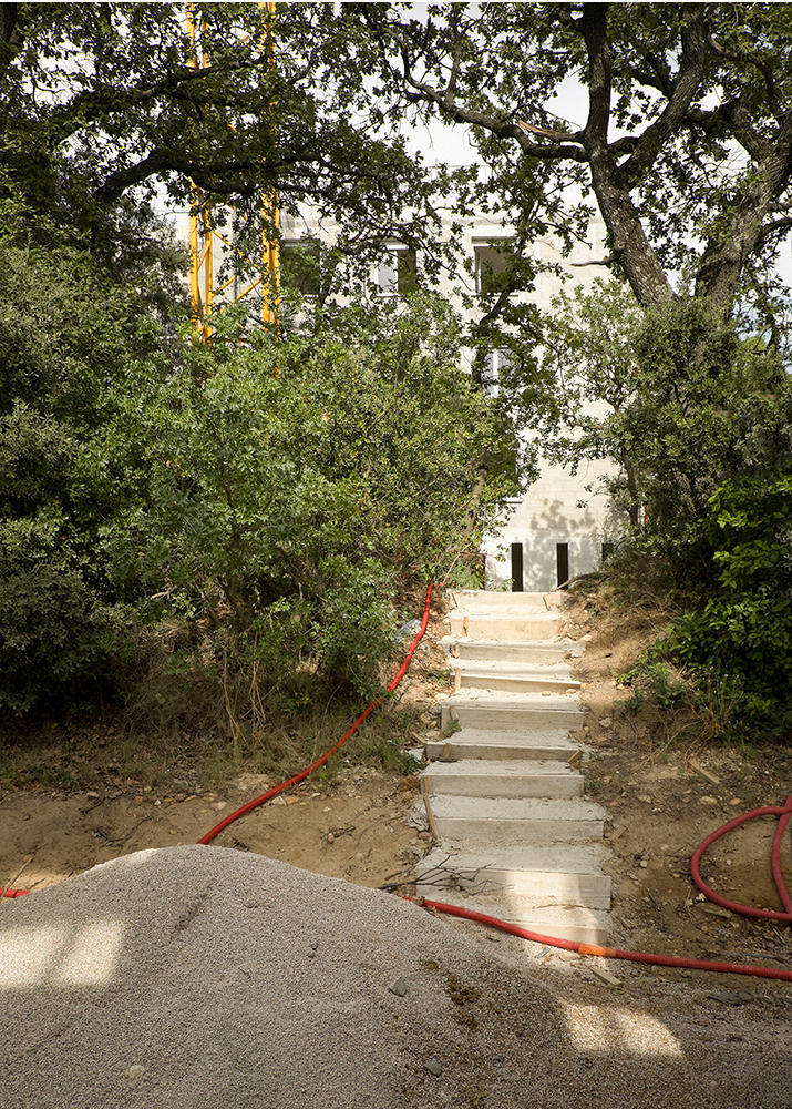
[(595, 282), (556, 307), (551, 457), (574, 471), (611, 462), (599, 489), (632, 525), (646, 507), (664, 541), (689, 545), (721, 482), (782, 449), (792, 393), (779, 358), (697, 298), (644, 313), (623, 285)]

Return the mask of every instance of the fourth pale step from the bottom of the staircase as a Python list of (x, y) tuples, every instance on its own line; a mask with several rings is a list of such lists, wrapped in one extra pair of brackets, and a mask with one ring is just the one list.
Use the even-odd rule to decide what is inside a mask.
[(457, 797), (583, 796), (583, 776), (566, 762), (526, 759), (433, 762), (420, 777), (424, 792)]

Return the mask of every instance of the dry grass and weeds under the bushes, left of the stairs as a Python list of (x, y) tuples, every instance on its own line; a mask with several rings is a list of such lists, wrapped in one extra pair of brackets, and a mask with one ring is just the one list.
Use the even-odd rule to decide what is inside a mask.
[[(383, 683), (402, 659), (397, 648)], [(372, 700), (378, 692), (382, 686)], [(6, 714), (0, 786), (195, 788), (220, 786), (243, 771), (281, 781), (332, 747), (366, 703), (309, 664), (274, 684), (255, 658), (226, 651), (218, 659), (208, 633), (196, 639), (194, 627), (172, 621), (138, 630), (123, 703), (54, 719)], [(405, 749), (416, 726), (398, 693), (387, 696), (317, 781), (331, 780), (340, 757), (409, 773)]]

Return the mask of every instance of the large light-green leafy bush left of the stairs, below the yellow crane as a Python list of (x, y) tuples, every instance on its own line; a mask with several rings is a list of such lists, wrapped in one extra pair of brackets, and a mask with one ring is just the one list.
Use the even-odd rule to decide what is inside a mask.
[(215, 653), (255, 660), (270, 688), (292, 688), (301, 660), (371, 692), (395, 581), (459, 553), (484, 458), (471, 547), (513, 488), (503, 423), (456, 368), (455, 334), (422, 302), (354, 346), (241, 342), (229, 314), (175, 373), (132, 365), (105, 428), (112, 468), (143, 482), (109, 540), (119, 588), (140, 579), (150, 619), (209, 619)]

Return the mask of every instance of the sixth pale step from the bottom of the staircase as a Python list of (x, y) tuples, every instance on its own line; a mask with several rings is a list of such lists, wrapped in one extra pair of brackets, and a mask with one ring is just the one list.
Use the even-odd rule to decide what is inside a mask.
[(459, 721), (462, 728), (503, 731), (583, 728), (583, 710), (576, 694), (490, 693), (460, 690), (442, 702), (441, 726)]

